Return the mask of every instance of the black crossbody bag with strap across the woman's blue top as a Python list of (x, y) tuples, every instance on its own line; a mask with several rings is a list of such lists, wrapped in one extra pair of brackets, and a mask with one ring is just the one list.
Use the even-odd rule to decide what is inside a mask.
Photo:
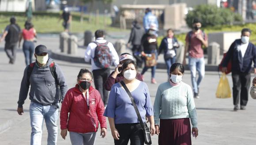
[(142, 130), (143, 130), (144, 142), (145, 142), (146, 145), (151, 145), (152, 141), (151, 141), (150, 129), (149, 129), (149, 127), (147, 127), (147, 123), (146, 123), (146, 126), (144, 126), (144, 124), (142, 122), (142, 119), (141, 119), (141, 116), (139, 114), (139, 110), (137, 108), (137, 105), (135, 104), (134, 99), (132, 97), (132, 94), (129, 91), (129, 89), (126, 87), (124, 81), (120, 81), (120, 83), (122, 84), (122, 86), (124, 87), (124, 90), (127, 92), (127, 94), (129, 95), (129, 98), (132, 101), (132, 105), (133, 105), (133, 107), (135, 109), (135, 112), (136, 112), (136, 114), (138, 116), (138, 119), (139, 119), (139, 124), (140, 124), (140, 126), (142, 127)]

